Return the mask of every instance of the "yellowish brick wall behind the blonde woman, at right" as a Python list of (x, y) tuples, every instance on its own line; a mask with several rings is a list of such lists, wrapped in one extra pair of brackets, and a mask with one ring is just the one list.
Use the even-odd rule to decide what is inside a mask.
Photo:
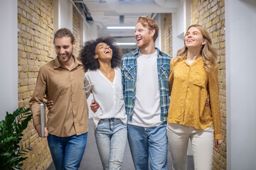
[(226, 88), (225, 88), (225, 8), (224, 0), (192, 0), (192, 23), (208, 30), (217, 50), (223, 145), (213, 150), (213, 169), (226, 169)]

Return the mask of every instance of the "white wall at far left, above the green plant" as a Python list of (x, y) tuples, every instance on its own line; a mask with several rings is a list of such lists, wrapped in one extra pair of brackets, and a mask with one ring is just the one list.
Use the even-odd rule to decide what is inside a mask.
[(0, 120), (18, 108), (17, 1), (0, 1)]

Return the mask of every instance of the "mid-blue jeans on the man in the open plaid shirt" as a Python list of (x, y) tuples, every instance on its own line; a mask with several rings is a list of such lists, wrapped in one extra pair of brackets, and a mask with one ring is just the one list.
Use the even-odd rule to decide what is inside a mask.
[(128, 124), (128, 141), (135, 169), (167, 170), (166, 122), (152, 128)]

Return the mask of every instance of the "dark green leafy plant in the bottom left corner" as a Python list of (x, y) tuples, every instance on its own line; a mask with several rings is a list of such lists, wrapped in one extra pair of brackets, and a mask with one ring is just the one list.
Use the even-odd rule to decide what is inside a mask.
[(5, 120), (0, 122), (0, 169), (21, 169), (23, 157), (32, 148), (19, 143), (22, 132), (28, 126), (32, 114), (30, 108), (18, 108), (14, 113), (6, 112)]

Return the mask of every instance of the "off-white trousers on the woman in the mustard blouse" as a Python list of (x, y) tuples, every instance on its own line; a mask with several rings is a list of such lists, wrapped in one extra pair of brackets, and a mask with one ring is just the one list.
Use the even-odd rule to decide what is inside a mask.
[(213, 125), (196, 130), (185, 125), (167, 124), (168, 143), (174, 170), (187, 169), (188, 139), (191, 139), (195, 170), (210, 170), (213, 162)]

